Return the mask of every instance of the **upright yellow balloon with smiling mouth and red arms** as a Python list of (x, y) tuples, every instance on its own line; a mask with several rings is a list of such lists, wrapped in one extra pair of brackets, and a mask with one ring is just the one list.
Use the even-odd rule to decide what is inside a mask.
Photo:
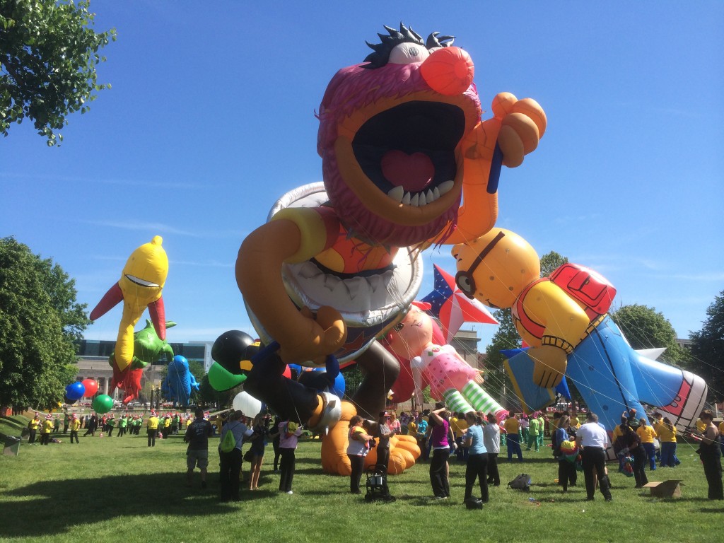
[[(123, 302), (123, 313), (111, 361), (113, 366), (111, 392), (115, 386), (126, 385), (129, 390), (124, 403), (137, 397), (140, 390), (140, 372), (133, 374), (132, 377), (129, 374), (138, 369), (132, 367), (133, 328), (147, 307), (156, 335), (161, 341), (166, 339), (164, 299), (161, 298), (161, 291), (169, 272), (169, 259), (161, 246), (162, 242), (161, 236), (153, 236), (150, 243), (144, 243), (135, 249), (123, 267), (121, 279), (106, 292), (90, 312), (90, 319), (96, 320)], [(135, 387), (137, 381), (138, 389)]]

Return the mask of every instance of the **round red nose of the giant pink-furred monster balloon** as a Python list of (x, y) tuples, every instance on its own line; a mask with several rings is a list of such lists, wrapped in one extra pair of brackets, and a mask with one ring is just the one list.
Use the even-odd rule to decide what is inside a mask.
[(454, 96), (464, 93), (473, 83), (475, 65), (463, 49), (443, 47), (422, 63), (420, 72), (432, 90), (445, 96)]

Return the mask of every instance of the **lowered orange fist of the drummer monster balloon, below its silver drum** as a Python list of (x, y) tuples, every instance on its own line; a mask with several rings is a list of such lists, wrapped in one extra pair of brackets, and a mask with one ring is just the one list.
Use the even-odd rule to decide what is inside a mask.
[[(306, 328), (299, 334), (289, 334), (287, 341), (279, 341), (279, 357), (286, 363), (305, 363), (315, 361), (324, 363), (344, 345), (347, 340), (347, 327), (340, 312), (329, 306), (322, 306), (316, 316), (307, 307), (300, 310), (306, 320)], [(293, 339), (291, 339), (293, 336)]]

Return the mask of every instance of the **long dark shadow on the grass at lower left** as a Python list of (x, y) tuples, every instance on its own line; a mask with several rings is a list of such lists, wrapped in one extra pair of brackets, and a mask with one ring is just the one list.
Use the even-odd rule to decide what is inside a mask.
[[(132, 466), (129, 466), (132, 469)], [(80, 470), (79, 470), (80, 471)], [(184, 473), (148, 473), (109, 476), (102, 479), (38, 481), (6, 492), (2, 504), (4, 537), (46, 536), (61, 534), (74, 526), (93, 521), (106, 521), (129, 515), (184, 515), (187, 517), (215, 515), (224, 509), (235, 510), (219, 502), (218, 478), (210, 476), (209, 488), (185, 487)], [(38, 511), (55, 508), (59, 502), (68, 504), (67, 515), (45, 515), (35, 522)]]

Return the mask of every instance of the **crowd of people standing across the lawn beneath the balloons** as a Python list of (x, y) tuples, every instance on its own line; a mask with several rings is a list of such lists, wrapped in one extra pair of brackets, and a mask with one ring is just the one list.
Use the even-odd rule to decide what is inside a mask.
[[(704, 476), (709, 487), (711, 500), (723, 500), (721, 457), (724, 455), (724, 423), (713, 422), (711, 411), (704, 410), (691, 429), (690, 437), (699, 442), (696, 452), (704, 466)], [(184, 434), (188, 442), (187, 484), (193, 482), (193, 471), (201, 471), (201, 487), (206, 488), (209, 466), (209, 437), (220, 433), (221, 441), (228, 432), (232, 433), (234, 446), (222, 450), (219, 445), (219, 481), (223, 501), (240, 500), (240, 481), (243, 461), (247, 461), (248, 489), (259, 489), (261, 466), (266, 445), (274, 450), (274, 473), (279, 473), (279, 492), (293, 494), (292, 481), (295, 473), (295, 450), (303, 426), (294, 421), (279, 418), (272, 423), (269, 413), (259, 413), (253, 419), (241, 411), (232, 411), (209, 420), (208, 413), (196, 409), (192, 418), (188, 413), (164, 413), (151, 411), (144, 419), (140, 414), (114, 414), (98, 416), (89, 413), (79, 416), (75, 413), (64, 415), (42, 415), (35, 413), (28, 424), (28, 442), (38, 439), (41, 445), (51, 441), (51, 432), (70, 432), (70, 442), (78, 443), (78, 435), (85, 428), (83, 436), (94, 436), (98, 429), (112, 437), (126, 434), (139, 435), (145, 425), (148, 447), (156, 445), (156, 438), (168, 438), (173, 434)], [(185, 430), (185, 431), (184, 431)], [(38, 438), (39, 434), (39, 438)], [(598, 423), (595, 413), (585, 413), (585, 420), (578, 413), (557, 411), (536, 412), (531, 415), (510, 413), (498, 424), (493, 413), (447, 411), (442, 403), (432, 411), (400, 413), (382, 411), (376, 421), (366, 421), (355, 416), (350, 421), (347, 455), (350, 460), (350, 492), (361, 494), (361, 476), (364, 460), (372, 447), (377, 449), (377, 463), (386, 469), (390, 458), (390, 438), (396, 434), (411, 434), (416, 437), (421, 450), (421, 461), (429, 462), (429, 476), (434, 500), (450, 498), (449, 461), (455, 458), (465, 463), (464, 502), (483, 504), (489, 500), (489, 485), (500, 485), (498, 456), (506, 447), (509, 462), (523, 462), (523, 450), (540, 452), (547, 450), (546, 437), (550, 437), (552, 455), (557, 463), (557, 484), (563, 492), (578, 483), (578, 471), (584, 474), (586, 500), (594, 500), (599, 489), (605, 500), (613, 500), (606, 464), (609, 449), (618, 457), (618, 470), (631, 476), (634, 488), (643, 488), (648, 482), (647, 471), (657, 468), (675, 468), (681, 461), (676, 455), (678, 430), (670, 419), (653, 411), (650, 416), (639, 416), (634, 409), (622, 413), (620, 424), (609, 433)], [(243, 445), (248, 444), (245, 455)], [(658, 445), (658, 447), (657, 447)], [(515, 457), (515, 460), (513, 460)], [(473, 489), (479, 486), (480, 497), (473, 497)]]

